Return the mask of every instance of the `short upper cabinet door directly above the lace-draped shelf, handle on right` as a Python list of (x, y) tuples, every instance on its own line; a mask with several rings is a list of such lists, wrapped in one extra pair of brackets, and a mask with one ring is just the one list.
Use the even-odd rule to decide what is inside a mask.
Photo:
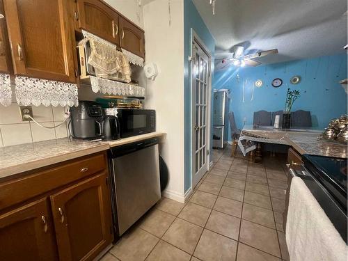
[(100, 0), (77, 0), (79, 26), (116, 45), (118, 40), (118, 14)]

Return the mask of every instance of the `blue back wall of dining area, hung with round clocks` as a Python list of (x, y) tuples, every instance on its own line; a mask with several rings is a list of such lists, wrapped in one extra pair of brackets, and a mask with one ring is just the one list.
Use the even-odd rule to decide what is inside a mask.
[[(290, 84), (290, 79), (294, 75), (301, 77), (299, 84)], [(271, 86), (271, 81), (275, 78), (283, 79), (283, 85), (279, 88)], [(287, 88), (290, 88), (301, 91), (301, 97), (294, 102), (292, 111), (298, 109), (310, 111), (313, 127), (324, 129), (331, 118), (347, 113), (347, 94), (339, 84), (340, 80), (346, 78), (347, 55), (340, 54), (260, 65), (255, 68), (236, 69), (231, 66), (228, 70), (215, 72), (212, 86), (216, 89), (231, 90), (230, 111), (235, 113), (239, 128), (243, 127), (244, 117), (246, 117), (246, 125), (253, 124), (254, 111), (283, 110)], [(262, 79), (263, 86), (254, 88), (253, 93), (253, 82), (257, 79)], [(251, 100), (252, 96), (253, 100)]]

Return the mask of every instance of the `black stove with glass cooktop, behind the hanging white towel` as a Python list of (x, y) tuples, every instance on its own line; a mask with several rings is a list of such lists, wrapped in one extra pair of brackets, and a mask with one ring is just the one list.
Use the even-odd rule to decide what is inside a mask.
[(301, 177), (347, 244), (347, 159), (303, 155), (304, 164), (288, 165), (291, 177)]

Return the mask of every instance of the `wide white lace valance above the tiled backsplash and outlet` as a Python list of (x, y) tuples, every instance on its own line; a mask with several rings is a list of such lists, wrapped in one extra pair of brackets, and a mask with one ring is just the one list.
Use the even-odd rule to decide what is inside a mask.
[(15, 78), (17, 103), (49, 106), (77, 106), (77, 85), (30, 77)]

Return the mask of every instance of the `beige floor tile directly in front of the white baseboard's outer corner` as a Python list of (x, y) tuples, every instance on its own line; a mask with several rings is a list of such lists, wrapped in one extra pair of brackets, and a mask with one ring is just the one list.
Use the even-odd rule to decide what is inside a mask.
[(205, 223), (207, 223), (207, 219), (211, 211), (212, 209), (209, 209), (207, 207), (193, 203), (187, 203), (187, 205), (182, 209), (182, 212), (180, 212), (179, 216), (177, 217), (194, 223), (198, 226), (204, 227)]

